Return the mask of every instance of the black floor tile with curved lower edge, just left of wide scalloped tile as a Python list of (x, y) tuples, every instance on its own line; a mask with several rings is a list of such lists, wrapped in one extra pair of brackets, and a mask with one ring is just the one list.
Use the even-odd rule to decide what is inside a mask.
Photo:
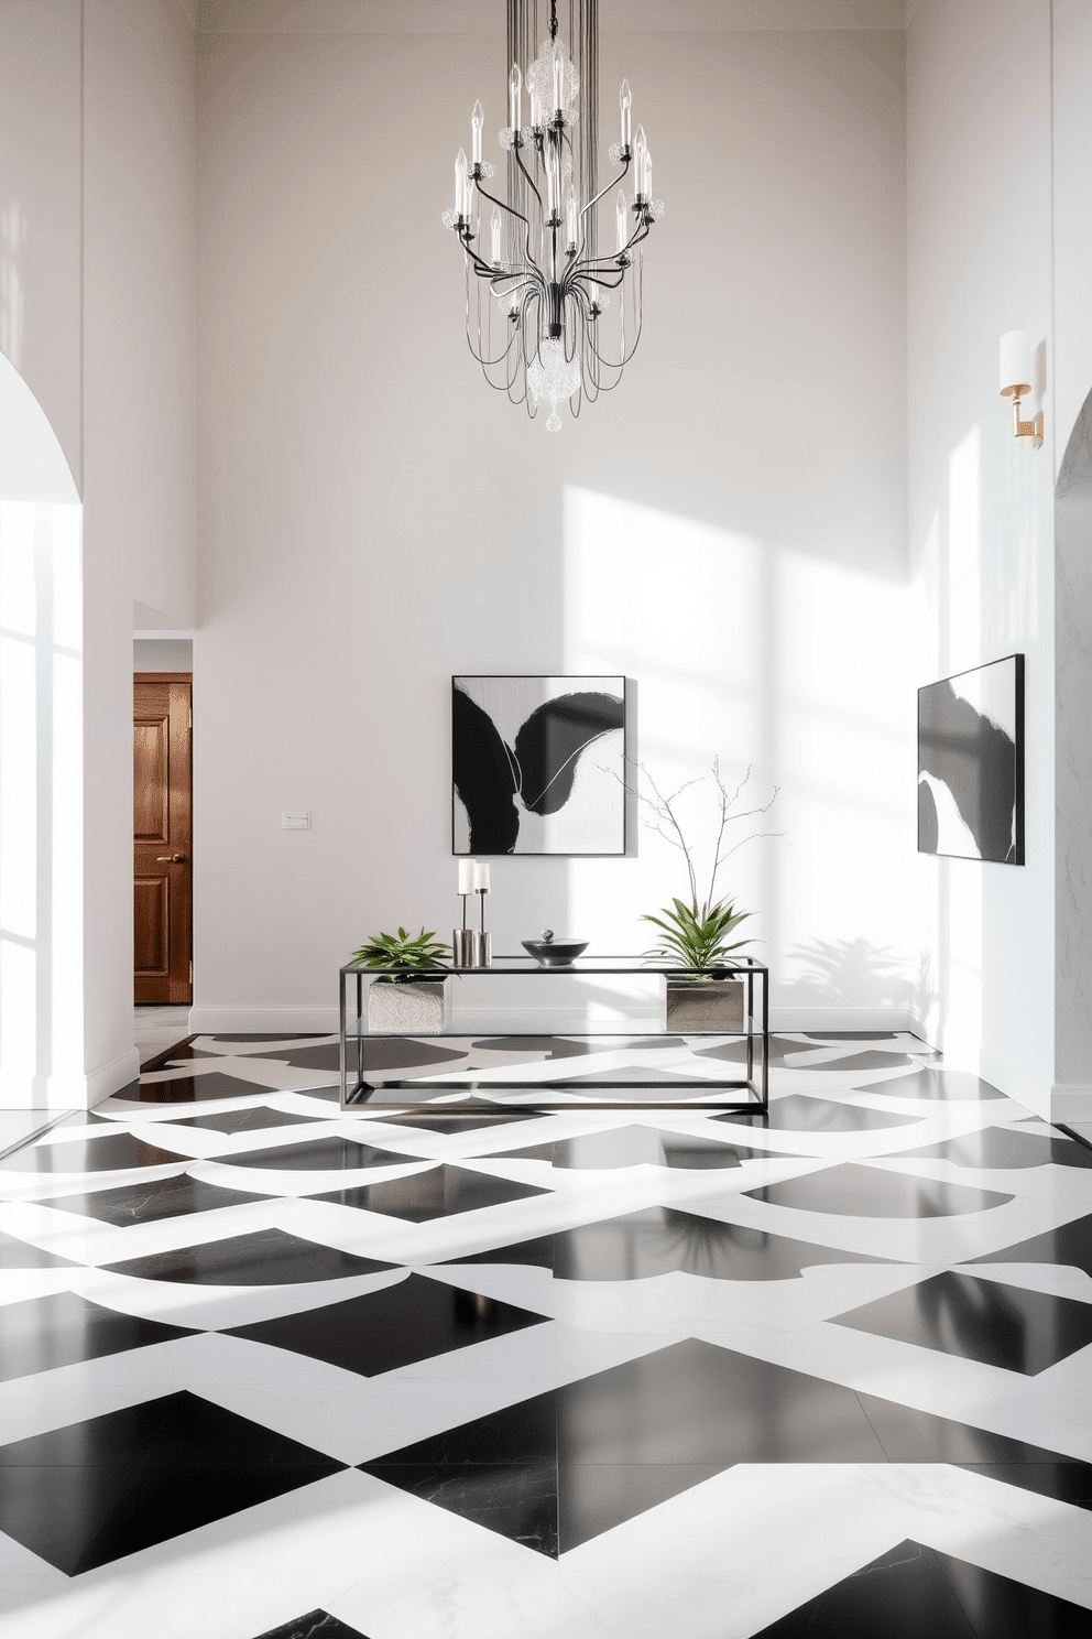
[(375, 1275), (393, 1265), (303, 1241), (283, 1229), (257, 1229), (223, 1241), (205, 1241), (201, 1246), (183, 1246), (174, 1252), (131, 1257), (108, 1267), (115, 1275), (131, 1275), (136, 1280), (175, 1280), (198, 1287), (285, 1287), (303, 1280)]

